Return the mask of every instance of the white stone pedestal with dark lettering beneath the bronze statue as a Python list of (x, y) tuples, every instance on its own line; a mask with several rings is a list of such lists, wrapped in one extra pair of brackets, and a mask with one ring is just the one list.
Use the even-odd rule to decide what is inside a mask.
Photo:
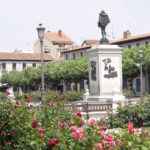
[[(88, 50), (89, 101), (114, 101), (122, 95), (122, 48), (117, 45), (98, 45)], [(115, 96), (116, 97), (116, 96)]]

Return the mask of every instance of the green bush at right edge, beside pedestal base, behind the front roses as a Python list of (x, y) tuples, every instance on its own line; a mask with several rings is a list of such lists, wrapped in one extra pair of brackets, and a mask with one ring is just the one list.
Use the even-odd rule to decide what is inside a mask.
[(132, 121), (136, 127), (150, 126), (150, 96), (146, 96), (136, 105), (119, 107), (116, 114), (108, 117), (111, 128), (125, 127), (128, 121)]

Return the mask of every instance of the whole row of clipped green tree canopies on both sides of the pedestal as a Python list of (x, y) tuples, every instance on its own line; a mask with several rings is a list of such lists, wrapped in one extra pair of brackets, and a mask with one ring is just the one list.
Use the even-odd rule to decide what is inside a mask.
[[(141, 62), (139, 50), (143, 50), (143, 70), (150, 72), (150, 45), (126, 48), (123, 50), (123, 75), (135, 77), (139, 73)], [(61, 81), (79, 82), (88, 79), (88, 59), (65, 60), (50, 62), (44, 66), (45, 82), (59, 84)], [(1, 77), (1, 82), (14, 87), (38, 87), (41, 82), (41, 67), (27, 68), (23, 71), (12, 71)]]

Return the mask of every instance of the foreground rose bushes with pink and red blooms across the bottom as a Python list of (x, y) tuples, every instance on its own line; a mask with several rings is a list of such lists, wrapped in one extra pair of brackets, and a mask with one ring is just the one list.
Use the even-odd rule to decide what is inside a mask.
[[(31, 97), (28, 99), (31, 100)], [(0, 149), (2, 150), (120, 150), (148, 149), (150, 136), (128, 129), (112, 132), (81, 112), (69, 112), (63, 103), (47, 101), (34, 108), (29, 101), (0, 102)]]

